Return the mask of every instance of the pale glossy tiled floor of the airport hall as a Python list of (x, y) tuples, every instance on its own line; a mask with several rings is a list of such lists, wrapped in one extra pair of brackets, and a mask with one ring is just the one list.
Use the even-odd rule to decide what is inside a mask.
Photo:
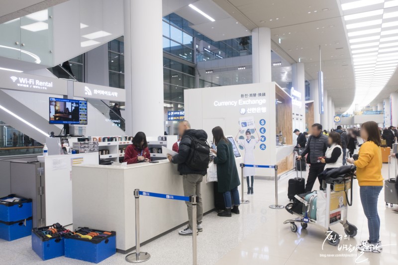
[[(388, 176), (387, 165), (384, 166), (383, 173)], [(290, 177), (279, 181), (279, 202), (283, 205), (288, 203), (286, 194)], [(316, 182), (314, 187), (317, 185)], [(240, 215), (220, 218), (213, 212), (204, 217), (204, 231), (198, 236), (199, 265), (398, 264), (398, 214), (385, 207), (384, 191), (379, 198), (379, 214), (382, 222), (381, 240), (385, 247), (382, 254), (368, 253), (361, 256), (356, 250), (350, 252), (341, 249), (350, 244), (357, 245), (369, 236), (357, 182), (354, 184), (354, 201), (349, 208), (348, 220), (358, 227), (358, 235), (342, 240), (340, 249), (327, 243), (322, 244), (325, 236), (317, 227), (299, 227), (298, 232), (293, 233), (288, 224), (283, 224), (292, 215), (285, 209), (268, 207), (275, 203), (273, 181), (255, 180), (254, 188), (254, 195), (245, 194), (250, 203), (240, 207)], [(335, 225), (332, 229), (344, 235), (341, 225)], [(12, 242), (0, 240), (0, 264), (88, 264), (65, 257), (42, 262), (31, 250), (30, 244), (30, 237)], [(146, 265), (189, 265), (192, 264), (192, 237), (182, 237), (174, 231), (142, 246), (141, 251), (151, 254), (151, 259), (144, 263)], [(327, 255), (329, 257), (325, 257)], [(100, 264), (127, 264), (124, 259), (125, 255), (116, 254)]]

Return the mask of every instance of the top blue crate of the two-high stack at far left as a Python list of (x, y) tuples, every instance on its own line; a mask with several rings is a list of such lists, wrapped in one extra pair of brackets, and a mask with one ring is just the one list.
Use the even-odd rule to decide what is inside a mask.
[[(17, 201), (3, 201), (10, 198), (19, 198)], [(0, 221), (16, 222), (32, 216), (32, 199), (26, 199), (15, 194), (0, 198)]]

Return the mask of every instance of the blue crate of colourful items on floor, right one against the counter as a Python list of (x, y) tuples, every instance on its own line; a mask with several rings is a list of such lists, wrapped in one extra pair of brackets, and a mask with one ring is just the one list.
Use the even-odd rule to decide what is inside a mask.
[[(93, 231), (103, 232), (95, 229)], [(100, 263), (116, 253), (116, 232), (112, 231), (110, 233), (111, 235), (100, 240), (65, 235), (65, 257)]]

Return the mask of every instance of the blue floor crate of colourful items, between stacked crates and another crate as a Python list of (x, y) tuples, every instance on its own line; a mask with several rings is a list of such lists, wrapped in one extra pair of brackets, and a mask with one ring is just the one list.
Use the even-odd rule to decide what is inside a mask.
[(41, 231), (46, 231), (48, 228), (49, 226), (32, 230), (32, 249), (43, 261), (65, 255), (65, 242), (62, 236), (51, 238), (42, 236)]

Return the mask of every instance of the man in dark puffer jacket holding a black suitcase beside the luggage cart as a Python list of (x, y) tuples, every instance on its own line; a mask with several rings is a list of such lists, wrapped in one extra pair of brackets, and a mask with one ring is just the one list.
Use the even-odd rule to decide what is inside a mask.
[[(320, 162), (319, 157), (324, 157), (327, 149), (327, 136), (322, 133), (322, 125), (315, 123), (311, 126), (311, 136), (308, 138), (307, 146), (297, 159), (308, 154), (311, 166), (309, 167), (305, 191), (311, 191), (316, 177), (323, 172), (325, 164)], [(321, 179), (319, 183), (322, 185)]]

